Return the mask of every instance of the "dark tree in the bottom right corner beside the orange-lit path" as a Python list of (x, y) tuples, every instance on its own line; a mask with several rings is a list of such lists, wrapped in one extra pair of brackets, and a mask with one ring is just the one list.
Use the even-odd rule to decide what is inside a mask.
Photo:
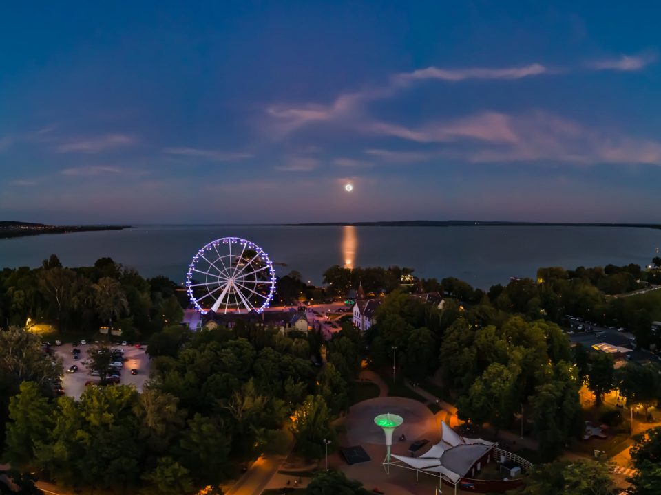
[(661, 493), (661, 427), (636, 435), (630, 452), (636, 467), (636, 473), (631, 478), (631, 494)]

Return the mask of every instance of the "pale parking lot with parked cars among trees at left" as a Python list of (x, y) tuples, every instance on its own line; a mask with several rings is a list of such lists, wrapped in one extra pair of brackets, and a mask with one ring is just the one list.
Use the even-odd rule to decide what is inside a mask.
[[(145, 354), (145, 347), (138, 349), (136, 347), (120, 346), (118, 344), (112, 347), (121, 347), (124, 349), (125, 362), (121, 372), (120, 383), (123, 385), (135, 385), (138, 391), (141, 392), (147, 378), (149, 378), (149, 371), (151, 369), (151, 361), (149, 360), (149, 356)], [(62, 386), (64, 393), (65, 395), (74, 397), (76, 400), (80, 399), (81, 394), (85, 390), (85, 382), (98, 383), (98, 377), (90, 375), (85, 364), (83, 364), (88, 358), (87, 351), (91, 348), (92, 346), (90, 344), (78, 344), (76, 349), (81, 350), (81, 356), (80, 359), (74, 360), (72, 344), (62, 344), (61, 346), (52, 347), (56, 355), (63, 360), (64, 377), (62, 378)], [(78, 371), (76, 373), (67, 373), (67, 369), (72, 364), (78, 366)], [(131, 374), (132, 368), (138, 370), (137, 375)]]

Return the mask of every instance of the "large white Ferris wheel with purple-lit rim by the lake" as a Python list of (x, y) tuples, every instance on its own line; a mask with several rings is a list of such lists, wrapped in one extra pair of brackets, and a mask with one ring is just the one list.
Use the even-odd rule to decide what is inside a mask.
[(193, 256), (186, 276), (191, 303), (208, 311), (261, 313), (275, 292), (275, 270), (269, 255), (240, 237), (223, 237)]

